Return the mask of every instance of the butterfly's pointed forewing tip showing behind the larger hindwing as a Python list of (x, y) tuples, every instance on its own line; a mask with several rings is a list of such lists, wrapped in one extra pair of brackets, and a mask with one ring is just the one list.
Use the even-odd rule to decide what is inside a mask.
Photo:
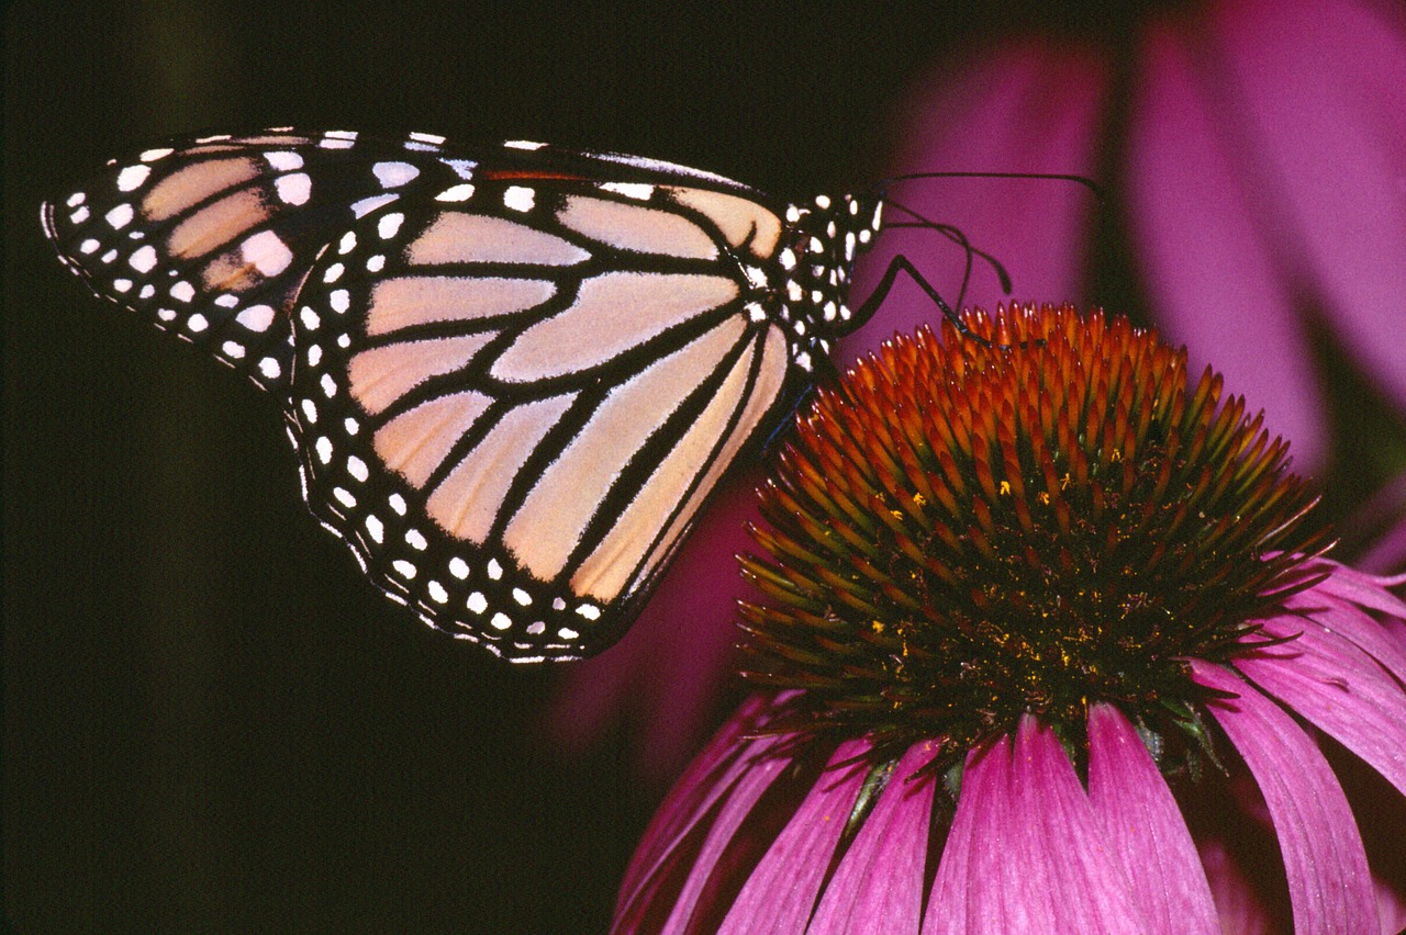
[(44, 205), (63, 261), (100, 296), (287, 392), (288, 313), (318, 251), (440, 166), (439, 138), (207, 136), (114, 160)]

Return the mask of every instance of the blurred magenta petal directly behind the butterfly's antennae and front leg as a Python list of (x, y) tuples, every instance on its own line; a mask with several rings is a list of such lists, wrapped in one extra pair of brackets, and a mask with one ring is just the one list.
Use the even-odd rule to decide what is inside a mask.
[[(1031, 38), (932, 80), (903, 115), (904, 147), (897, 173), (1008, 171), (1092, 175), (1108, 74), (1102, 58), (1074, 45)], [(1083, 296), (1088, 222), (1097, 199), (1083, 185), (1012, 178), (945, 178), (901, 183), (890, 190), (901, 205), (955, 225), (970, 243), (994, 254), (1014, 281), (1002, 293), (994, 272), (977, 261), (965, 305), (994, 310), (1011, 299), (1078, 300)], [(911, 220), (887, 208), (886, 223)], [(1059, 232), (1057, 234), (1052, 232)], [(956, 305), (966, 254), (932, 230), (886, 230), (860, 258), (852, 296), (862, 300), (896, 253), (905, 254), (949, 305)], [(848, 362), (894, 331), (935, 323), (932, 300), (900, 285), (868, 327), (842, 343)]]

